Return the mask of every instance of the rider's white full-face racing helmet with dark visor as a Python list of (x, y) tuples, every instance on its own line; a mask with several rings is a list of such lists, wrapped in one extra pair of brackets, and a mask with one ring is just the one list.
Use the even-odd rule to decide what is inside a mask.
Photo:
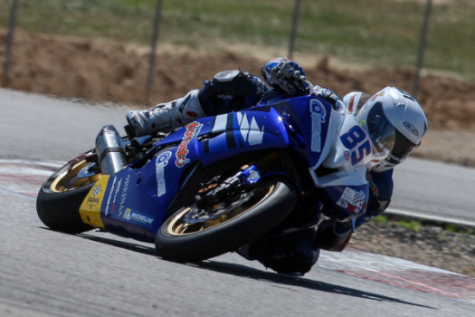
[(427, 119), (421, 105), (407, 92), (386, 87), (376, 92), (356, 114), (372, 142), (376, 172), (394, 168), (407, 159), (423, 139)]

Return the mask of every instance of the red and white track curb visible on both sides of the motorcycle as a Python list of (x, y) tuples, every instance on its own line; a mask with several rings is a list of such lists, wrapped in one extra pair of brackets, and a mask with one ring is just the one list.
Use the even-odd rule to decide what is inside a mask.
[[(0, 193), (34, 199), (61, 161), (0, 159)], [(410, 252), (410, 250), (408, 250)], [(354, 248), (322, 252), (318, 266), (358, 278), (475, 303), (475, 278)]]

